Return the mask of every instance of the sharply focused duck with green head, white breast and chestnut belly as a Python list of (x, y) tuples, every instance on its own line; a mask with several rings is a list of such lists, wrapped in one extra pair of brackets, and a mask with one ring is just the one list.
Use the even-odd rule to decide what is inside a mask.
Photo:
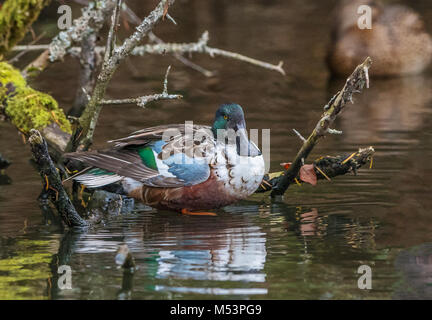
[(262, 182), (263, 155), (248, 139), (243, 109), (220, 105), (211, 126), (160, 125), (108, 141), (104, 150), (67, 153), (86, 168), (71, 178), (123, 192), (150, 207), (188, 215), (218, 209), (253, 194)]

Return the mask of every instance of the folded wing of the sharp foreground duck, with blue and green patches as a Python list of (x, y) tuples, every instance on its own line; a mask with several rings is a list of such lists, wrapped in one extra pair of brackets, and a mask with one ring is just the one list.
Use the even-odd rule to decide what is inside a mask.
[(68, 153), (65, 157), (104, 170), (104, 174), (96, 170), (75, 178), (92, 187), (124, 177), (152, 187), (195, 185), (210, 176), (208, 159), (214, 152), (215, 142), (211, 131), (200, 130), (204, 126), (194, 126), (193, 133), (184, 131), (184, 124), (181, 126), (183, 132), (179, 125), (177, 133), (173, 132), (169, 138), (166, 130), (173, 128), (172, 125), (153, 127), (113, 141), (116, 143), (113, 149)]

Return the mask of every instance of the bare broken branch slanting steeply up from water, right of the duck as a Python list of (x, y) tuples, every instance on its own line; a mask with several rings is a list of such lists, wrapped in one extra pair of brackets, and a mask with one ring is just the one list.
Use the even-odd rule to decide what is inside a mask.
[(324, 107), (324, 113), (318, 121), (311, 135), (303, 142), (300, 151), (297, 153), (291, 166), (285, 171), (284, 175), (277, 181), (277, 184), (272, 188), (272, 197), (282, 196), (288, 189), (289, 185), (299, 175), (300, 168), (304, 164), (309, 153), (318, 143), (319, 139), (327, 133), (340, 133), (333, 130), (330, 126), (333, 124), (336, 117), (341, 113), (348, 101), (352, 102), (354, 93), (360, 92), (364, 85), (369, 87), (368, 69), (372, 64), (371, 58), (357, 66), (351, 76), (347, 79), (345, 86), (339, 91), (330, 102)]

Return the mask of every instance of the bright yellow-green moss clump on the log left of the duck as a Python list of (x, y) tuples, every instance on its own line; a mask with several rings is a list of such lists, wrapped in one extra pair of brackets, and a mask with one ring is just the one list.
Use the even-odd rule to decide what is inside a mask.
[(11, 65), (0, 62), (0, 101), (5, 114), (22, 132), (41, 130), (57, 123), (67, 133), (72, 133), (70, 122), (57, 101), (48, 94), (27, 86), (25, 79)]

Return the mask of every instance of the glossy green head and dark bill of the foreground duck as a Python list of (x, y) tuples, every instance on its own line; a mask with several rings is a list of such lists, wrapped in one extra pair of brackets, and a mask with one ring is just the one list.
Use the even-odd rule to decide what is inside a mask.
[[(236, 103), (222, 104), (216, 111), (212, 131), (215, 138), (218, 131), (233, 132), (234, 137), (231, 141), (237, 144), (237, 153), (242, 156), (255, 157), (261, 155), (261, 151), (253, 142), (250, 142), (246, 132), (246, 121), (242, 107)], [(230, 138), (228, 138), (229, 140)]]

